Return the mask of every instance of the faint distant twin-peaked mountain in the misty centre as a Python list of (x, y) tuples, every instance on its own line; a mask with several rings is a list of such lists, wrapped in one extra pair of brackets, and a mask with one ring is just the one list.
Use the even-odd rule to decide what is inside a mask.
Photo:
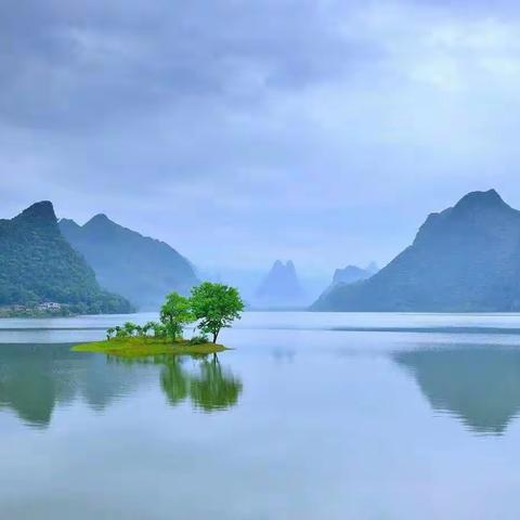
[(255, 294), (255, 303), (266, 307), (298, 306), (304, 299), (296, 268), (291, 260), (276, 260)]

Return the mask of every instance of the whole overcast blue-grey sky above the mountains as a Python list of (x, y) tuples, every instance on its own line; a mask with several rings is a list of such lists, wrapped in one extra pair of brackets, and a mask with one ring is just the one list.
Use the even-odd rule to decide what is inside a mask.
[(520, 207), (512, 1), (10, 3), (3, 218), (50, 199), (204, 269), (332, 276), (467, 192)]

